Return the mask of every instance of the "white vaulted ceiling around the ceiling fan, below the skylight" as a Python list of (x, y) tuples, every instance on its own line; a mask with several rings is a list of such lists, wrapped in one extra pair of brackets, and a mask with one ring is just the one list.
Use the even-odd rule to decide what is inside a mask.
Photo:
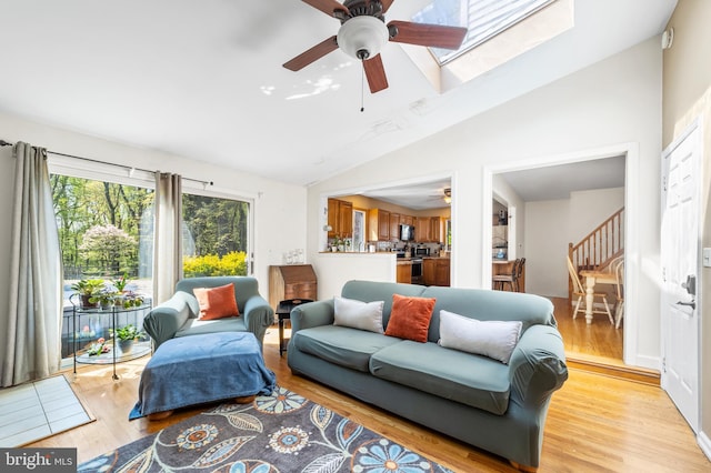
[[(360, 64), (341, 51), (281, 67), (339, 27), (299, 0), (0, 0), (0, 111), (309, 184), (659, 34), (675, 3), (575, 0), (572, 30), (444, 94), (389, 43), (390, 88), (360, 112)], [(398, 0), (388, 20), (422, 4)]]

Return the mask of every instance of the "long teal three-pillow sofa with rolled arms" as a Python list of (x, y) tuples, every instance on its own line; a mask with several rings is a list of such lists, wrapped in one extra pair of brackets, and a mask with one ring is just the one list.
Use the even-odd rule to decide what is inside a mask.
[[(341, 295), (384, 301), (387, 326), (395, 293), (437, 299), (425, 343), (334, 325), (333, 300), (311, 302), (291, 312), (292, 373), (501, 455), (521, 470), (537, 469), (551, 395), (568, 379), (552, 303), (523, 293), (371, 281), (349, 281)], [(441, 310), (481, 321), (521, 321), (509, 363), (440, 346)]]

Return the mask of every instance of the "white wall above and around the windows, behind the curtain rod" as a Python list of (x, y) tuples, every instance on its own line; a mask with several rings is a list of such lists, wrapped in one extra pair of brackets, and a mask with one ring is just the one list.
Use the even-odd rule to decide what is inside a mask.
[[(176, 172), (186, 178), (213, 181), (216, 191), (237, 192), (254, 199), (254, 275), (268, 296), (269, 265), (281, 264), (282, 253), (306, 248), (306, 189), (214, 167), (198, 160), (166, 154), (42, 125), (0, 113), (0, 139), (26, 141), (51, 151), (148, 170)], [(236, 150), (243, 157), (243, 150)], [(199, 158), (199, 157), (196, 157)], [(14, 160), (10, 147), (0, 148), (0, 214), (10, 215)], [(0, 268), (10, 262), (10, 229), (0, 225)], [(0, 271), (0, 300), (7, 300), (8, 274)]]

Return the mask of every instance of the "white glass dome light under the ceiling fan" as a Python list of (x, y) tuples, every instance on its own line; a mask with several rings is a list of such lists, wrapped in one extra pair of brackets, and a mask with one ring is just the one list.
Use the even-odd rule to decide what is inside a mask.
[(359, 60), (374, 58), (388, 42), (388, 27), (375, 17), (356, 17), (344, 22), (338, 31), (341, 50)]

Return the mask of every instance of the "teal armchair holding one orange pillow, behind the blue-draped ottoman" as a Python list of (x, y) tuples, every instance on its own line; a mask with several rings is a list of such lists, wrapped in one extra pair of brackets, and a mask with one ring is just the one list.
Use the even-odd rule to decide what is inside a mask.
[[(199, 320), (200, 306), (192, 290), (234, 284), (234, 299), (239, 316), (218, 320)], [(274, 310), (259, 294), (259, 284), (250, 276), (204, 276), (178, 281), (176, 293), (157, 305), (143, 319), (143, 330), (153, 340), (157, 349), (164, 341), (177, 336), (189, 336), (216, 332), (251, 332), (260, 346), (263, 345), (267, 328), (274, 322)]]

